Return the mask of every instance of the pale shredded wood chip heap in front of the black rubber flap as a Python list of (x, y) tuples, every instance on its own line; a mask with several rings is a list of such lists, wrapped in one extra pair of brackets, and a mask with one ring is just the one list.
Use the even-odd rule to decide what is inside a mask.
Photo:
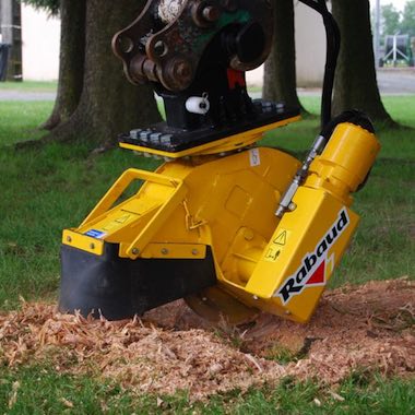
[(241, 353), (202, 330), (84, 319), (42, 304), (0, 316), (0, 365), (43, 359), (57, 371), (103, 376), (138, 392), (188, 390), (192, 399), (245, 391), (283, 372), (276, 361)]

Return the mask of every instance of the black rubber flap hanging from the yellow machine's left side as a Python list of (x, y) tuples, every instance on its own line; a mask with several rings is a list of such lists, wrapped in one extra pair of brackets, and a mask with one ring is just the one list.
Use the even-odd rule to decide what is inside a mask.
[(209, 247), (203, 260), (130, 260), (119, 258), (118, 250), (118, 245), (106, 244), (98, 257), (62, 245), (61, 312), (121, 320), (216, 284)]

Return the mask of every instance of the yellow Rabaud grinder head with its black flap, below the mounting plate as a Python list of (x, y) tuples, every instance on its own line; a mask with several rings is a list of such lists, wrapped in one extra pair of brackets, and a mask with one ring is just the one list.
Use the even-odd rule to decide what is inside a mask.
[[(84, 290), (61, 296), (60, 308), (122, 318), (185, 296), (213, 320), (222, 313), (240, 321), (265, 310), (308, 321), (357, 226), (351, 193), (365, 181), (379, 147), (374, 133), (340, 123), (281, 217), (275, 210), (301, 163), (275, 149), (179, 158), (155, 173), (127, 170), (80, 227), (63, 232), (69, 259), (62, 258), (62, 275), (70, 275), (72, 289), (80, 275)], [(133, 180), (143, 181), (138, 193), (112, 206)], [(80, 254), (83, 261), (74, 261)], [(85, 276), (91, 272), (72, 270), (74, 263), (99, 269), (96, 287)], [(146, 272), (144, 280), (130, 275), (128, 263), (144, 264), (138, 271)], [(177, 272), (182, 278), (176, 280)], [(66, 283), (63, 277), (62, 292)]]

